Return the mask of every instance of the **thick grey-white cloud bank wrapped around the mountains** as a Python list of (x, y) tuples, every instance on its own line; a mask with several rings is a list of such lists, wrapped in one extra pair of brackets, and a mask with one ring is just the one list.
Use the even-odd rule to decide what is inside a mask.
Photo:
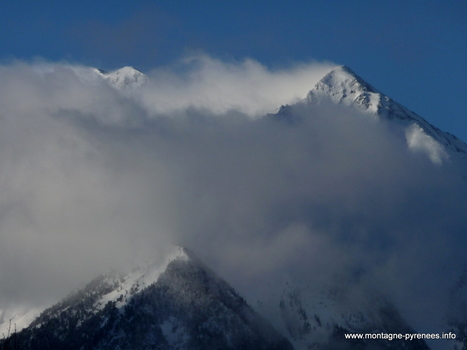
[(465, 179), (338, 106), (260, 117), (329, 69), (198, 57), (120, 91), (86, 67), (0, 67), (0, 302), (175, 243), (250, 298), (358, 276), (435, 331), (465, 264)]

